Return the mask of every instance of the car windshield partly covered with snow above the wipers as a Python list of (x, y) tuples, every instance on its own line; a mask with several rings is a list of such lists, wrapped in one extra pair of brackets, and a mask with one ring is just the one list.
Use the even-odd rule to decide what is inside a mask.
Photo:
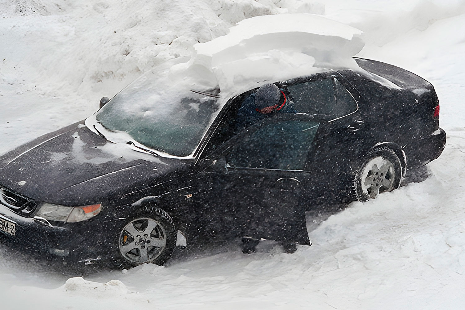
[(96, 119), (151, 149), (189, 156), (219, 113), (217, 87), (205, 67), (168, 62), (126, 86)]

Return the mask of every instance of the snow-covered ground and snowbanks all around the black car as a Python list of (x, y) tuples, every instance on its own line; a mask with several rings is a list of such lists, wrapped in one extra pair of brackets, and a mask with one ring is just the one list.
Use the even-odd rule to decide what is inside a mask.
[[(77, 2), (77, 1), (76, 1)], [(17, 0), (0, 3), (0, 153), (91, 115), (102, 96), (189, 56), (248, 17), (317, 13), (364, 31), (359, 56), (404, 67), (438, 93), (443, 154), (431, 176), (352, 203), (310, 233), (200, 253), (168, 267), (62, 275), (0, 244), (10, 309), (464, 309), (465, 1)]]

